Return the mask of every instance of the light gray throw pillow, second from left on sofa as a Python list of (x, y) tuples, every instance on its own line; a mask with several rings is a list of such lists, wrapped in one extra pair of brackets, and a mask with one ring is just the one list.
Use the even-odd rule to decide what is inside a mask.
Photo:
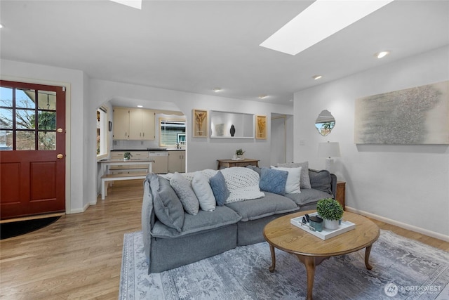
[(192, 184), (184, 176), (179, 173), (173, 174), (170, 178), (170, 185), (175, 190), (177, 197), (180, 198), (182, 207), (187, 214), (198, 214), (199, 202), (192, 189)]

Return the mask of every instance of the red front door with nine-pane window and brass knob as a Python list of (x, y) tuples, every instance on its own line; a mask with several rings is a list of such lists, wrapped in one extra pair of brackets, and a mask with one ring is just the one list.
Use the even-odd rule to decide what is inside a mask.
[(0, 81), (1, 219), (65, 211), (65, 91)]

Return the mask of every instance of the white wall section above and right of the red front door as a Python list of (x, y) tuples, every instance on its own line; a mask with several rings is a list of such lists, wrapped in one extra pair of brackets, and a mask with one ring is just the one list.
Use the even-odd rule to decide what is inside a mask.
[(84, 84), (83, 72), (46, 65), (1, 60), (1, 79), (66, 86), (66, 211), (83, 211), (90, 198), (83, 184), (87, 179), (83, 146)]

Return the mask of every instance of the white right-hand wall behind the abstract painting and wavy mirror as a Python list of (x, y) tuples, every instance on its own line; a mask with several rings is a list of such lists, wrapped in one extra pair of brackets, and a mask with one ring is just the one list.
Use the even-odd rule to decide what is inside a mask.
[[(446, 81), (448, 53), (445, 46), (295, 93), (295, 162), (323, 169), (318, 143), (340, 142), (334, 173), (347, 181), (347, 207), (449, 240), (449, 146), (354, 144), (356, 98)], [(326, 137), (314, 128), (324, 109), (336, 119)]]

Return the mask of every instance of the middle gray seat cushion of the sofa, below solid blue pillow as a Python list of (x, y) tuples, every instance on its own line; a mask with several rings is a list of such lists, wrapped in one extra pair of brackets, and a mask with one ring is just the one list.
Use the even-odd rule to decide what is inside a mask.
[(236, 211), (241, 216), (241, 221), (257, 220), (265, 216), (298, 210), (297, 204), (286, 197), (269, 192), (264, 194), (263, 198), (233, 202), (226, 206)]

